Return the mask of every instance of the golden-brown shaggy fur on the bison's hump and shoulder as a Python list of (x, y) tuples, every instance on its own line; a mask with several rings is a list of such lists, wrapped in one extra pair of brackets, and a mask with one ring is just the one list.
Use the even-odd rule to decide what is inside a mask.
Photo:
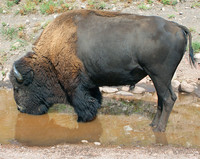
[[(72, 11), (64, 13), (50, 23), (41, 36), (34, 44), (34, 52), (38, 56), (38, 60), (43, 57), (49, 59), (54, 65), (60, 82), (63, 87), (73, 90), (73, 86), (77, 81), (80, 71), (84, 71), (84, 67), (80, 59), (76, 56), (77, 26), (74, 17), (87, 17), (89, 14), (96, 14), (103, 17), (127, 16), (130, 18), (141, 18), (142, 16), (133, 16), (131, 14), (121, 14), (118, 12), (102, 12), (92, 10)], [(68, 62), (65, 62), (68, 61)]]

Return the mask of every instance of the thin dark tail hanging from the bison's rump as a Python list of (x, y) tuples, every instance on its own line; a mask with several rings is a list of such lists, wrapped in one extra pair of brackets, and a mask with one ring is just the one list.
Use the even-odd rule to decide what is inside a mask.
[(196, 60), (194, 58), (193, 48), (192, 48), (192, 35), (189, 31), (189, 29), (183, 25), (177, 24), (189, 37), (189, 58), (190, 58), (190, 64), (195, 66)]

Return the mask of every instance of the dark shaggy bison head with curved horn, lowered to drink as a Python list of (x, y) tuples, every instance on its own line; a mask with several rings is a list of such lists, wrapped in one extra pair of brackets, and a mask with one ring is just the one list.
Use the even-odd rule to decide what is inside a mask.
[(10, 81), (18, 110), (23, 113), (40, 115), (54, 103), (65, 103), (55, 69), (45, 57), (28, 53), (13, 64)]

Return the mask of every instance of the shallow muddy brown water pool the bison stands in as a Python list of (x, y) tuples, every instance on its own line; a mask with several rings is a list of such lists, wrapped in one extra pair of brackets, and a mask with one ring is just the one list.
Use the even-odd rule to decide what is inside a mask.
[[(13, 92), (0, 90), (0, 143), (49, 146), (87, 140), (102, 145), (169, 144), (200, 148), (198, 97), (178, 95), (165, 133), (153, 133), (149, 126), (156, 110), (154, 94), (121, 98), (108, 101), (105, 98), (106, 102), (94, 121), (77, 123), (70, 106), (56, 105), (48, 114), (41, 116), (19, 113)], [(131, 112), (130, 108), (134, 111)], [(116, 109), (118, 111), (113, 111)]]

